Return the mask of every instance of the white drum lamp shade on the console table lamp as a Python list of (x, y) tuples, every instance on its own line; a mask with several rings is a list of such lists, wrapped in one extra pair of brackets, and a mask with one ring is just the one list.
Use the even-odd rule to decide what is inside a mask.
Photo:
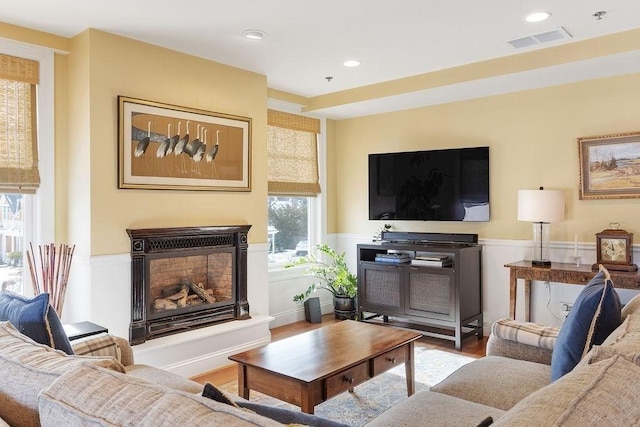
[(561, 190), (518, 190), (518, 221), (558, 222), (564, 219)]

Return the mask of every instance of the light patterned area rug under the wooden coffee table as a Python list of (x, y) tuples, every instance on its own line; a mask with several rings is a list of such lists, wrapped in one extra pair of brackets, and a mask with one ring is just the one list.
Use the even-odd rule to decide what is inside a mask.
[[(474, 359), (462, 354), (415, 347), (416, 393), (428, 390), (459, 367)], [(218, 385), (237, 395), (236, 381)], [(404, 365), (398, 366), (315, 407), (315, 415), (351, 426), (363, 426), (391, 406), (407, 398)], [(251, 391), (251, 401), (263, 405), (299, 411), (300, 408), (262, 393)]]

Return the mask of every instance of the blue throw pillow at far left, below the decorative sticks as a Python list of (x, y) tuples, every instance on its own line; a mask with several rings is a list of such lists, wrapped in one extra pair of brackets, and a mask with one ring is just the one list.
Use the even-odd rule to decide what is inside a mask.
[(35, 342), (73, 354), (60, 318), (49, 305), (48, 293), (31, 299), (11, 292), (0, 293), (0, 321), (5, 320)]

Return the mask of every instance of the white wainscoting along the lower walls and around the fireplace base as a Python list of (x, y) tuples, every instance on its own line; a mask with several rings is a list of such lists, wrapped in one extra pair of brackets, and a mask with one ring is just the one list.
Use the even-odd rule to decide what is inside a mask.
[[(356, 245), (371, 242), (371, 236), (339, 234), (327, 238), (327, 243), (336, 250), (346, 252), (347, 262), (356, 271)], [(491, 324), (509, 315), (509, 269), (504, 265), (530, 257), (530, 241), (482, 239), (483, 312), (485, 330)], [(634, 248), (634, 258), (640, 260), (640, 251)], [(306, 289), (310, 278), (304, 277), (304, 269), (268, 271), (268, 245), (251, 244), (248, 248), (248, 300), (252, 319), (235, 321), (199, 330), (151, 340), (142, 346), (134, 346), (136, 359), (140, 363), (167, 368), (182, 375), (192, 376), (227, 364), (226, 356), (264, 345), (270, 341), (269, 328), (304, 319), (302, 304), (292, 301), (295, 293)], [(594, 244), (579, 245), (584, 263), (595, 262)], [(551, 259), (570, 262), (573, 242), (552, 242)], [(79, 277), (90, 277), (89, 283), (73, 281), (74, 273)], [(72, 280), (67, 292), (63, 321), (71, 323), (90, 320), (106, 326), (115, 335), (128, 337), (131, 319), (131, 258), (128, 253), (91, 257), (88, 262), (74, 258)], [(615, 284), (614, 284), (615, 285)], [(518, 317), (524, 312), (523, 284), (518, 286)], [(560, 325), (561, 302), (573, 302), (582, 286), (534, 282), (531, 290), (531, 321)], [(623, 303), (637, 294), (633, 290), (619, 290)], [(331, 295), (318, 292), (323, 313), (332, 311)], [(250, 330), (242, 333), (234, 328), (235, 323), (245, 323)], [(213, 329), (210, 329), (213, 328)], [(217, 328), (217, 329), (216, 329)], [(190, 334), (190, 335), (186, 335)], [(236, 337), (238, 339), (236, 340)], [(186, 341), (184, 341), (186, 340)], [(154, 343), (155, 341), (155, 343)], [(212, 347), (212, 342), (223, 343)], [(145, 346), (146, 345), (146, 346)], [(167, 356), (169, 355), (169, 356)]]

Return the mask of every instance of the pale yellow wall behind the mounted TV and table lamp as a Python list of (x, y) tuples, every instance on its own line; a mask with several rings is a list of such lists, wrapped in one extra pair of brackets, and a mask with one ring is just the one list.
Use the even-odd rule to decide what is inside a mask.
[(337, 232), (372, 233), (367, 154), (450, 147), (490, 147), (491, 221), (390, 221), (395, 230), (478, 233), (530, 239), (516, 220), (517, 191), (544, 186), (565, 192), (566, 219), (552, 240), (593, 241), (619, 222), (640, 234), (640, 199), (578, 200), (577, 137), (640, 131), (640, 74), (592, 80), (471, 101), (338, 121)]

